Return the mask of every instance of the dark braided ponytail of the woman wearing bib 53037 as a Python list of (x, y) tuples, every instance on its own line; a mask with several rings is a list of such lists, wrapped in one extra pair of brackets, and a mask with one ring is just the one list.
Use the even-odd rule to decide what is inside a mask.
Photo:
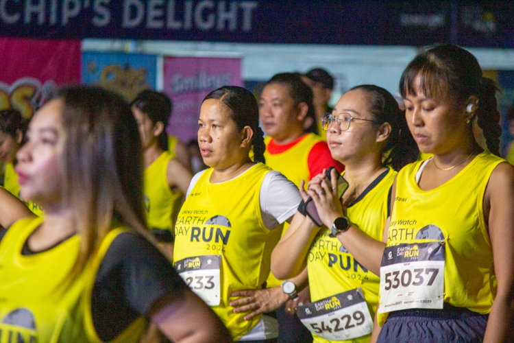
[(498, 86), (493, 80), (482, 78), (478, 89), (476, 116), (478, 117), (478, 126), (484, 132), (487, 149), (491, 154), (500, 156), (502, 127), (500, 126), (500, 112), (498, 112), (498, 102), (496, 100), (497, 91)]

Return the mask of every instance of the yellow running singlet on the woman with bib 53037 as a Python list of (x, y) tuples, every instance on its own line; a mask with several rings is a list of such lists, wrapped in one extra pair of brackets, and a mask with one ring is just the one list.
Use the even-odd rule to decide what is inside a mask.
[[(404, 304), (382, 306), (388, 294), (400, 294), (413, 284), (416, 285), (414, 292), (422, 289), (421, 293), (430, 295), (425, 296), (427, 300), (423, 300), (426, 302), (423, 307), (436, 308), (427, 304), (437, 303), (439, 297), (444, 303), (466, 307), (479, 314), (491, 311), (496, 277), (483, 200), (489, 177), (502, 162), (502, 158), (482, 152), (454, 178), (430, 191), (420, 189), (415, 180), (421, 162), (400, 170), (381, 274), (384, 264), (395, 259), (408, 259), (411, 265), (431, 263), (432, 268), (419, 264), (417, 270), (404, 268), (400, 274), (390, 274), (389, 282), (380, 281), (380, 325), (387, 319), (387, 313), (397, 306), (421, 306), (421, 298), (411, 302), (406, 298), (408, 294), (402, 297)], [(428, 248), (425, 250), (424, 247)], [(433, 258), (422, 261), (424, 256)], [(437, 263), (441, 265), (440, 272)], [(441, 287), (441, 294), (432, 292), (435, 287)], [(396, 299), (399, 298), (396, 296)]]

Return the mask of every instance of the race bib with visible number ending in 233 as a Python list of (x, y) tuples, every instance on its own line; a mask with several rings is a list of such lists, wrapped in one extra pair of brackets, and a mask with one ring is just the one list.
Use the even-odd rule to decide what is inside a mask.
[(173, 263), (182, 279), (209, 306), (219, 305), (221, 255), (188, 257)]

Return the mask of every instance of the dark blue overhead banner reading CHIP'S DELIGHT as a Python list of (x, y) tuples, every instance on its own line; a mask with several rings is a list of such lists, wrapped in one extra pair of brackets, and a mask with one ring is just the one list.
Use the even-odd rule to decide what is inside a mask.
[(0, 35), (514, 47), (512, 1), (0, 0)]

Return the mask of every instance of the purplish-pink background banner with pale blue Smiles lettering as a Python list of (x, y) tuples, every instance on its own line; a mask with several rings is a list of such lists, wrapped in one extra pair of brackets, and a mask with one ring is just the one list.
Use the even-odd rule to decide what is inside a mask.
[(164, 93), (173, 101), (168, 133), (184, 143), (197, 139), (201, 101), (228, 85), (243, 86), (240, 58), (164, 58)]

